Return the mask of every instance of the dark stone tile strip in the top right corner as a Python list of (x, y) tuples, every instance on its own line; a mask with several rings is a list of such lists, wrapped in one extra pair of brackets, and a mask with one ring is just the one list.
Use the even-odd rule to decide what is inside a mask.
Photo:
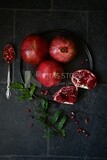
[(103, 10), (107, 11), (107, 2), (104, 0), (54, 0), (53, 8), (58, 10)]

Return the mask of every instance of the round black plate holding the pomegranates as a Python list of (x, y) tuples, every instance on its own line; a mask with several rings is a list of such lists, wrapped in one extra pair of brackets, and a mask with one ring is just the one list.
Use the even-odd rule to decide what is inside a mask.
[[(74, 72), (75, 70), (78, 69), (89, 69), (92, 70), (93, 69), (93, 62), (92, 62), (92, 57), (91, 57), (91, 53), (87, 47), (87, 45), (75, 34), (65, 31), (65, 30), (52, 30), (52, 31), (47, 31), (44, 33), (40, 33), (40, 35), (46, 39), (48, 42), (50, 42), (55, 36), (57, 35), (61, 35), (64, 37), (68, 37), (69, 39), (73, 39), (78, 47), (78, 54), (77, 56), (69, 63), (66, 64), (62, 64), (63, 68), (64, 68), (64, 79), (62, 80), (62, 82), (56, 86), (56, 87), (51, 87), (48, 88), (49, 91), (49, 95), (47, 96), (49, 99), (52, 98), (51, 95), (53, 95), (59, 88), (61, 88), (62, 86), (65, 85), (71, 85), (72, 82), (70, 81), (69, 78), (69, 74)], [(31, 78), (30, 78), (30, 82), (31, 83), (35, 83), (38, 88), (40, 88), (39, 90), (46, 90), (47, 88), (42, 86), (38, 81), (35, 80), (35, 67), (33, 68), (31, 65), (25, 63), (22, 59), (21, 59), (21, 63), (20, 63), (20, 73), (21, 73), (21, 78), (23, 80), (24, 83), (26, 83), (27, 85), (29, 84), (29, 73), (31, 73)], [(25, 76), (26, 75), (26, 76)], [(25, 78), (27, 77), (27, 78)], [(28, 82), (28, 83), (27, 83)], [(40, 91), (38, 92), (40, 93)], [(80, 94), (83, 93), (83, 90), (80, 90)]]

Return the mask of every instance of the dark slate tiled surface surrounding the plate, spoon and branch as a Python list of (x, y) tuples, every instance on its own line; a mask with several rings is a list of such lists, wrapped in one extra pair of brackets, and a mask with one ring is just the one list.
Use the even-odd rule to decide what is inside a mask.
[[(19, 71), (20, 41), (28, 34), (49, 29), (65, 29), (87, 42), (99, 84), (86, 91), (71, 111), (84, 109), (90, 117), (90, 136), (78, 135), (69, 126), (68, 138), (44, 139), (43, 127), (35, 122), (32, 129), (26, 108), (17, 92), (5, 98), (7, 65), (2, 60), (3, 47), (13, 43), (17, 59), (13, 81), (21, 81)], [(0, 1), (0, 160), (107, 160), (107, 1), (106, 0), (1, 0)]]

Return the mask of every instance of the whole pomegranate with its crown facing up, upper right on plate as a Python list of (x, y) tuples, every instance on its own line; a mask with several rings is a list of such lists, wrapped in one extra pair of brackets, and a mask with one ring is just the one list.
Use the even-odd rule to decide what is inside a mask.
[(69, 62), (77, 54), (77, 47), (73, 40), (56, 36), (50, 44), (49, 53), (55, 60), (59, 62)]

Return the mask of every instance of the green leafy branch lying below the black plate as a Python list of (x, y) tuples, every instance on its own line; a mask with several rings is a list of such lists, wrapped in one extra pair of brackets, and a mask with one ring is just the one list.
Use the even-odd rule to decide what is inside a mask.
[(66, 126), (69, 122), (68, 115), (60, 109), (52, 111), (52, 106), (49, 100), (36, 95), (37, 87), (31, 84), (30, 88), (26, 88), (23, 83), (15, 82), (11, 84), (12, 89), (17, 89), (20, 92), (18, 98), (20, 100), (34, 100), (35, 97), (39, 100), (38, 107), (33, 108), (33, 114), (37, 117), (44, 127), (49, 128), (49, 133), (45, 136), (60, 135), (66, 137)]

